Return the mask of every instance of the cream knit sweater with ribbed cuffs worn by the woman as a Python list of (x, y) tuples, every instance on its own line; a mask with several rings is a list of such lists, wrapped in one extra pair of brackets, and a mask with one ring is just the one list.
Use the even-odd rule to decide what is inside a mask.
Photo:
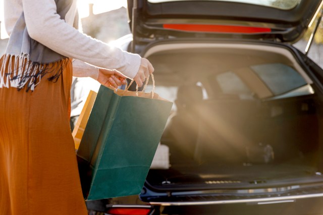
[(116, 69), (125, 76), (134, 78), (139, 70), (140, 56), (110, 47), (76, 30), (73, 27), (76, 2), (77, 0), (73, 1), (65, 20), (62, 20), (56, 12), (55, 0), (5, 0), (6, 30), (10, 35), (17, 19), (24, 12), (31, 38), (74, 59), (73, 76), (97, 79), (98, 67), (101, 67)]

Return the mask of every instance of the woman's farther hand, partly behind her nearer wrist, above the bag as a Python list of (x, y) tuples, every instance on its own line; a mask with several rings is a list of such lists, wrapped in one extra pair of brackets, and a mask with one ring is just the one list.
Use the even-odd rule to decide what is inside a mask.
[(126, 84), (126, 76), (117, 70), (107, 70), (99, 68), (99, 75), (97, 81), (106, 87), (118, 88), (121, 85)]

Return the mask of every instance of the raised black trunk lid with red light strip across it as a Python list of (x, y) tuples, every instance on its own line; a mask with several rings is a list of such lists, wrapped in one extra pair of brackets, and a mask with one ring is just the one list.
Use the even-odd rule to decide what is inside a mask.
[(321, 0), (128, 0), (128, 12), (138, 41), (220, 37), (295, 42), (321, 5)]

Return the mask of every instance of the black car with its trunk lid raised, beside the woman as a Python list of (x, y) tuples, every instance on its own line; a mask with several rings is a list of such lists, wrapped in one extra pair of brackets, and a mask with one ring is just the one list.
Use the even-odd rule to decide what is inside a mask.
[(141, 194), (96, 209), (323, 214), (323, 71), (291, 45), (322, 1), (128, 6), (124, 46), (152, 63), (155, 92), (175, 105)]

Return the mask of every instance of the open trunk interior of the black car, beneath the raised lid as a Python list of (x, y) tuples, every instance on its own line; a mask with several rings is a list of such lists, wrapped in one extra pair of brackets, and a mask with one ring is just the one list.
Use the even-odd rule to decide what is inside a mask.
[(270, 42), (150, 46), (156, 92), (176, 105), (160, 140), (170, 166), (150, 170), (146, 187), (159, 194), (141, 199), (298, 195), (323, 182), (321, 97), (294, 51)]

